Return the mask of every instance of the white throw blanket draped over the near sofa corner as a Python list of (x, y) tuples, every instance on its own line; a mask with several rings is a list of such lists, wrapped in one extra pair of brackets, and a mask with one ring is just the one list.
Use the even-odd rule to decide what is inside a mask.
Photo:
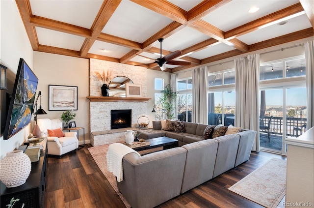
[(141, 156), (134, 149), (129, 148), (128, 146), (121, 143), (113, 143), (109, 145), (107, 152), (107, 170), (117, 177), (117, 181), (120, 182), (123, 180), (123, 165), (122, 159), (126, 154), (134, 152)]

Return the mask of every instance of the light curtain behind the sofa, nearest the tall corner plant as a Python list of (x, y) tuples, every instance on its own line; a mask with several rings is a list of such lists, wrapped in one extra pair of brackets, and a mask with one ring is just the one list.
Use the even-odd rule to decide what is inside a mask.
[(207, 124), (208, 121), (208, 67), (192, 71), (192, 122)]

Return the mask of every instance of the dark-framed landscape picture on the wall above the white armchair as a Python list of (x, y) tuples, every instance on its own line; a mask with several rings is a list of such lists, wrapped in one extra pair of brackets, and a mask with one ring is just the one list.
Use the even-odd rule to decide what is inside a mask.
[(78, 110), (78, 87), (49, 85), (49, 110)]

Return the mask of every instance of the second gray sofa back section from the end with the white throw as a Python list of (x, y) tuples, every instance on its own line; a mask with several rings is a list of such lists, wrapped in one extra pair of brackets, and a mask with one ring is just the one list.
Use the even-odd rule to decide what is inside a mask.
[(181, 193), (184, 193), (213, 176), (218, 141), (209, 139), (183, 145), (186, 149), (186, 161)]

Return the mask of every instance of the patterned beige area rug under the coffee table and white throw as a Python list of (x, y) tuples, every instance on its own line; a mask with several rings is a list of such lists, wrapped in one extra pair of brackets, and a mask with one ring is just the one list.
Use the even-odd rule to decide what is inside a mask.
[[(108, 151), (109, 145), (101, 145), (101, 146), (95, 146), (88, 148), (90, 154), (94, 158), (96, 164), (98, 165), (99, 169), (103, 172), (109, 183), (111, 184), (112, 188), (117, 192), (122, 202), (125, 204), (126, 208), (131, 208), (131, 205), (128, 203), (128, 201), (124, 198), (124, 196), (119, 192), (116, 177), (107, 171), (107, 160), (106, 155)], [(139, 151), (141, 155), (152, 152), (152, 151), (158, 151), (161, 150), (161, 148), (155, 148), (155, 149), (148, 149)]]

